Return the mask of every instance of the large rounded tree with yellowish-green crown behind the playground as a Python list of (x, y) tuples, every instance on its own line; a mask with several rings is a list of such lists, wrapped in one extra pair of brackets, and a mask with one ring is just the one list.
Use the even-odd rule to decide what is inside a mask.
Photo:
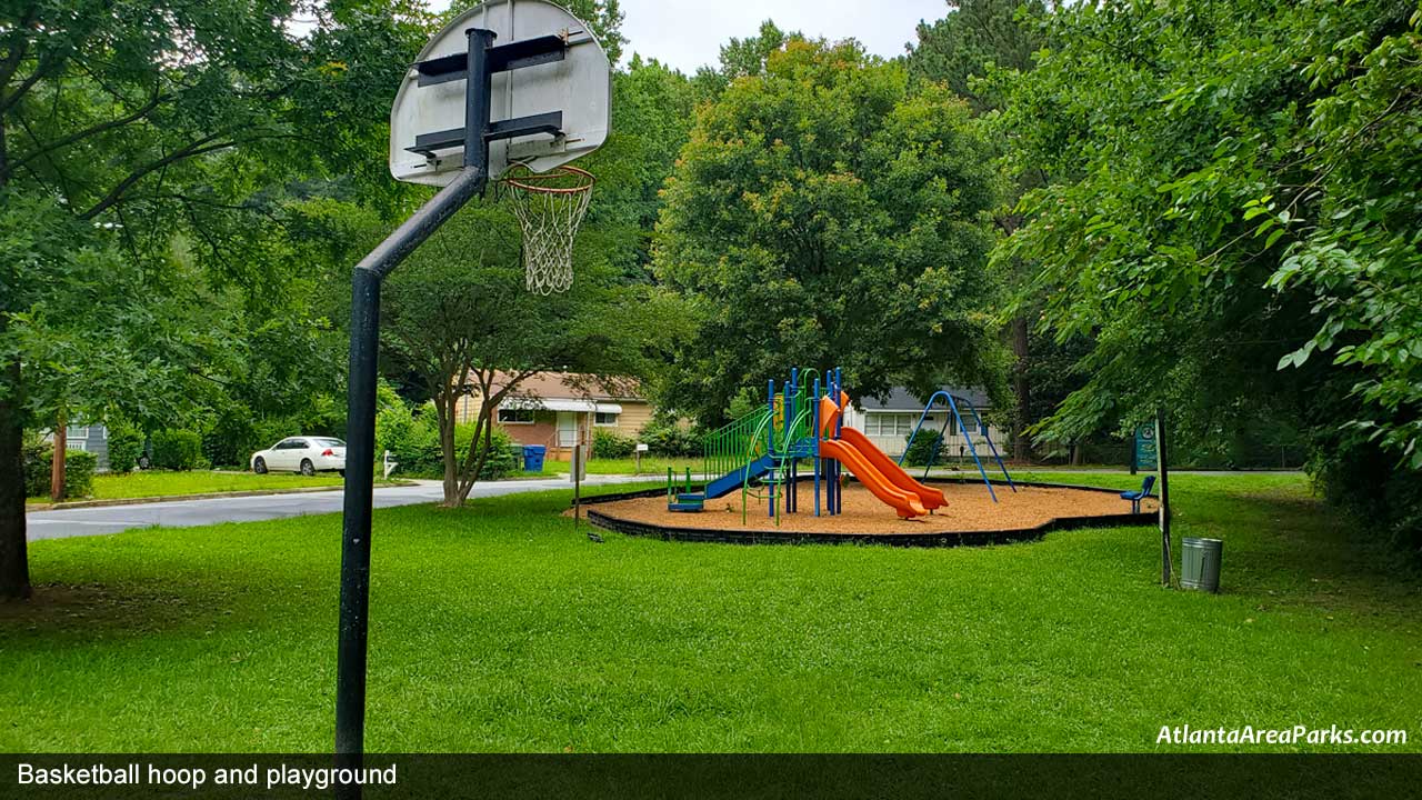
[(796, 364), (860, 394), (991, 384), (997, 195), (970, 122), (852, 41), (791, 40), (704, 104), (658, 223), (657, 275), (698, 322), (665, 401), (710, 423)]

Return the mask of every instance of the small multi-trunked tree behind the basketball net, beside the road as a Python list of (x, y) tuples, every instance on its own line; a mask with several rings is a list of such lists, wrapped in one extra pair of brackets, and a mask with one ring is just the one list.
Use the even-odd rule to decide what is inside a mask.
[[(385, 370), (419, 381), (434, 400), (444, 456), (444, 504), (458, 507), (489, 457), (493, 410), (540, 372), (616, 381), (646, 372), (658, 336), (674, 326), (670, 303), (629, 285), (613, 242), (579, 239), (567, 293), (523, 285), (519, 228), (508, 208), (472, 204), (395, 272), (384, 292)], [(621, 248), (629, 243), (621, 242)], [(482, 400), (468, 451), (455, 450), (456, 406)]]

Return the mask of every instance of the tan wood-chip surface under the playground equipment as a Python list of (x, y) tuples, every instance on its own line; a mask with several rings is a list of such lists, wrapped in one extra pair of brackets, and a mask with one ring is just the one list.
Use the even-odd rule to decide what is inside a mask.
[[(937, 483), (948, 500), (946, 508), (917, 520), (900, 520), (884, 514), (883, 502), (867, 488), (850, 483), (845, 488), (845, 508), (840, 515), (815, 517), (813, 511), (782, 514), (779, 525), (766, 515), (765, 501), (748, 498), (745, 524), (741, 521), (739, 494), (708, 501), (702, 514), (675, 514), (667, 510), (665, 498), (633, 497), (599, 502), (590, 518), (597, 522), (611, 522), (606, 527), (621, 528), (619, 522), (643, 527), (636, 532), (654, 534), (656, 528), (671, 532), (667, 538), (707, 538), (700, 535), (678, 537), (675, 531), (744, 531), (749, 538), (755, 534), (793, 535), (806, 534), (815, 538), (823, 535), (843, 537), (894, 537), (936, 534), (978, 534), (1010, 532), (1024, 534), (1015, 538), (1030, 538), (1025, 534), (1039, 534), (1049, 528), (1086, 527), (1092, 524), (1149, 524), (1156, 511), (1156, 501), (1146, 500), (1142, 514), (1132, 515), (1130, 504), (1121, 500), (1116, 491), (1092, 488), (1020, 485), (1014, 494), (998, 491), (1000, 502), (994, 504), (981, 483)], [(801, 487), (805, 491), (805, 487)], [(812, 508), (808, 502), (802, 508)], [(1132, 520), (1132, 517), (1136, 517)], [(631, 532), (631, 531), (629, 531)], [(731, 541), (728, 537), (722, 537)]]

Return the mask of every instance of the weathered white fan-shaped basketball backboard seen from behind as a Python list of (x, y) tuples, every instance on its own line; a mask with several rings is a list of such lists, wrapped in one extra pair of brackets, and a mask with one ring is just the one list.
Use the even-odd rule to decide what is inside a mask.
[[(397, 181), (444, 186), (464, 168), (462, 141), (432, 137), (465, 124), (462, 74), (431, 74), (418, 64), (468, 53), (469, 28), (495, 31), (495, 46), (550, 36), (567, 44), (560, 58), (533, 56), (520, 68), (492, 75), (495, 125), (539, 115), (549, 115), (557, 125), (550, 124), (549, 132), (491, 141), (491, 177), (515, 162), (542, 172), (602, 147), (611, 127), (611, 65), (593, 33), (562, 6), (546, 0), (489, 0), (445, 26), (405, 73), (390, 114), (390, 174)], [(562, 132), (552, 135), (553, 128)]]

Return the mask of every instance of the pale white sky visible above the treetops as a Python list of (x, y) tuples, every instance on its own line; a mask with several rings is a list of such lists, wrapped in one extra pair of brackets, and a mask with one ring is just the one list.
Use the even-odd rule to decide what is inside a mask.
[[(474, 0), (452, 0), (474, 6)], [(451, 0), (434, 0), (437, 10)], [(884, 57), (900, 56), (919, 20), (947, 13), (944, 0), (621, 0), (623, 36), (633, 53), (687, 73), (717, 64), (731, 37), (755, 36), (765, 20), (811, 38), (857, 38)]]

